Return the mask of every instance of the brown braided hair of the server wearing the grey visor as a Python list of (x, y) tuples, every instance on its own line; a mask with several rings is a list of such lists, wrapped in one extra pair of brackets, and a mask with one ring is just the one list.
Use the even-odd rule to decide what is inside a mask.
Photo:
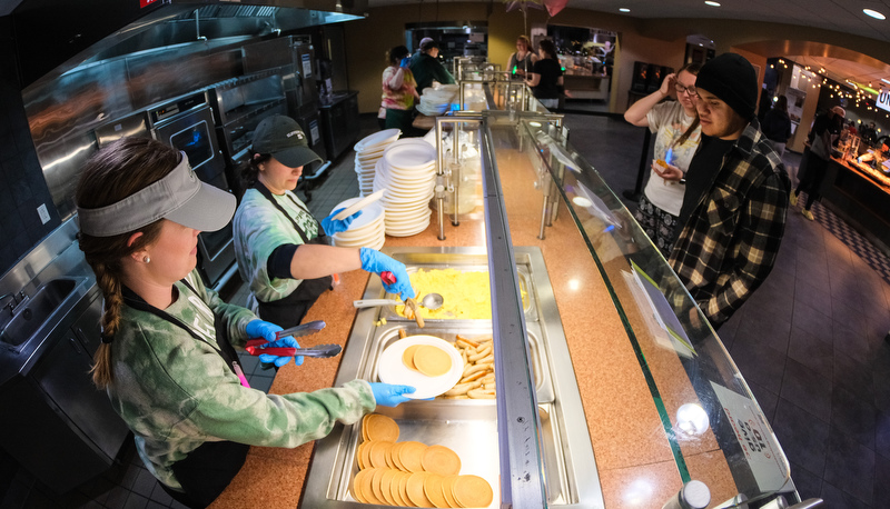
[[(179, 152), (158, 141), (146, 138), (121, 138), (93, 154), (83, 167), (77, 186), (75, 201), (78, 207), (96, 209), (107, 207), (157, 182), (176, 168)], [(162, 220), (137, 230), (111, 237), (95, 237), (80, 232), (78, 240), (87, 263), (96, 273), (96, 283), (105, 298), (101, 319), (102, 343), (96, 352), (92, 382), (105, 389), (113, 381), (111, 343), (106, 342), (120, 327), (123, 306), (121, 293), (122, 260), (160, 236)], [(134, 233), (141, 232), (128, 246)]]

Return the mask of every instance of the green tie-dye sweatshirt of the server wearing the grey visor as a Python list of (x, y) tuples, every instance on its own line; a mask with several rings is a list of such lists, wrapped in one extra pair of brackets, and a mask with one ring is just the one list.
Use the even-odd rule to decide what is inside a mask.
[(178, 489), (172, 463), (207, 441), (297, 447), (330, 432), (336, 421), (352, 423), (375, 408), (370, 386), (354, 380), (343, 388), (266, 395), (240, 385), (216, 346), (214, 320), (236, 348), (256, 316), (224, 302), (188, 276), (192, 293), (176, 283), (179, 297), (165, 311), (207, 342), (147, 311), (123, 306), (111, 345), (115, 381), (108, 389), (115, 410), (136, 437), (146, 467)]

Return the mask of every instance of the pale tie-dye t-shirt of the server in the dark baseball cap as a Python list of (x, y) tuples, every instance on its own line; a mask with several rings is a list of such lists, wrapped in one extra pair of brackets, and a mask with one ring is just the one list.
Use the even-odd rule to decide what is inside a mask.
[[(308, 239), (318, 237), (320, 229), (318, 221), (294, 193), (286, 191), (283, 196), (273, 194), (273, 198), (296, 221)], [(248, 307), (256, 311), (257, 299), (263, 302), (274, 302), (293, 293), (303, 282), (301, 279), (273, 278), (266, 268), (275, 248), (288, 243), (304, 243), (290, 219), (259, 191), (248, 189), (235, 212), (233, 227), (238, 270), (241, 279), (248, 281), (250, 288)]]

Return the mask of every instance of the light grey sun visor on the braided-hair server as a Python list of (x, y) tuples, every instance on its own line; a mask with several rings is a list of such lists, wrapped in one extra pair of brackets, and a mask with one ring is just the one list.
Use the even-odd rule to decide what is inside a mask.
[(80, 231), (93, 237), (112, 237), (136, 231), (158, 219), (216, 231), (235, 213), (235, 196), (198, 180), (185, 152), (179, 164), (165, 178), (107, 207), (78, 207)]

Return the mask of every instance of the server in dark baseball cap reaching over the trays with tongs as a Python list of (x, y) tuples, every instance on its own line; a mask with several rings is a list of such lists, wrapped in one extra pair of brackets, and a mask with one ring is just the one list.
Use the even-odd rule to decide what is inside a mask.
[(294, 194), (303, 167), (320, 160), (294, 119), (281, 114), (263, 119), (244, 170), (248, 189), (233, 221), (238, 270), (250, 288), (248, 307), (286, 328), (303, 320), (330, 288), (334, 273), (389, 271), (397, 282), (387, 290), (403, 298), (415, 296), (403, 263), (369, 248), (325, 243), (326, 233), (346, 230), (362, 212), (338, 220), (334, 217), (340, 210), (335, 210), (319, 224)]

